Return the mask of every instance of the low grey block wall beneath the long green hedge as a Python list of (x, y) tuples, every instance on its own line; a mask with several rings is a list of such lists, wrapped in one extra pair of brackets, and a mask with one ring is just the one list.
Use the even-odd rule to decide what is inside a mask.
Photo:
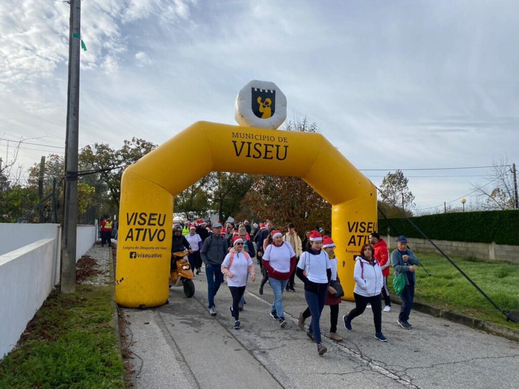
[[(397, 248), (396, 237), (386, 238), (386, 243), (391, 249)], [(418, 253), (437, 253), (436, 248), (425, 239), (407, 238), (408, 245), (413, 251)], [(510, 246), (493, 243), (472, 243), (433, 240), (434, 244), (440, 247), (447, 255), (461, 257), (475, 257), (479, 259), (490, 259), (496, 261), (506, 261), (519, 263), (519, 246)]]

